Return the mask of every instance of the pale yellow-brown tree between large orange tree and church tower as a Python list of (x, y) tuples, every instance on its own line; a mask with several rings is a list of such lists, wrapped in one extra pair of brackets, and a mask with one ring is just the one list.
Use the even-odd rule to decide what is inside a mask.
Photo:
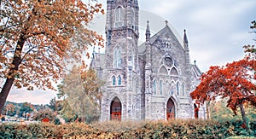
[[(61, 96), (66, 96), (67, 108), (72, 108), (82, 121), (91, 122), (99, 118), (102, 81), (96, 72), (86, 67), (73, 67), (59, 85)], [(65, 107), (64, 110), (65, 111)]]

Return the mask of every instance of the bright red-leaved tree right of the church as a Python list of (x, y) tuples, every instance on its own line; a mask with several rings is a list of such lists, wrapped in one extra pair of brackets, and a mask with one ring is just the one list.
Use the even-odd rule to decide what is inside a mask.
[(201, 84), (190, 96), (198, 104), (226, 98), (227, 107), (230, 107), (235, 115), (237, 107), (240, 108), (243, 125), (246, 126), (243, 105), (248, 103), (256, 107), (255, 72), (256, 61), (253, 53), (224, 67), (210, 67), (209, 71), (201, 76)]

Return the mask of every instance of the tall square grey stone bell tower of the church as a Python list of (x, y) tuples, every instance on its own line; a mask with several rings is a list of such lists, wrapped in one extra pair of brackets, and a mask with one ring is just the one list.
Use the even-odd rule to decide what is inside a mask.
[[(107, 0), (102, 120), (141, 119), (138, 12), (137, 0)], [(112, 105), (115, 100), (119, 105)]]

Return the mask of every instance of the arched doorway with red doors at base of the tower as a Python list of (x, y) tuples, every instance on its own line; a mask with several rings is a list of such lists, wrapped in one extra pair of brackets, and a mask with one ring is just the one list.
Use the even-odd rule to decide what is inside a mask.
[(119, 98), (114, 97), (113, 101), (111, 101), (110, 106), (110, 119), (111, 120), (121, 120), (122, 116), (122, 104)]

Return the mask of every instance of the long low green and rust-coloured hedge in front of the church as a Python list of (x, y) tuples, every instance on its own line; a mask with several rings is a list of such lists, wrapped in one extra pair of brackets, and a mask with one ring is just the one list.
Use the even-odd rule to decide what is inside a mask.
[[(256, 137), (256, 121), (250, 130), (241, 121), (173, 120), (173, 121), (108, 121), (86, 125), (2, 124), (0, 138), (227, 138)], [(232, 137), (230, 137), (232, 138)]]

